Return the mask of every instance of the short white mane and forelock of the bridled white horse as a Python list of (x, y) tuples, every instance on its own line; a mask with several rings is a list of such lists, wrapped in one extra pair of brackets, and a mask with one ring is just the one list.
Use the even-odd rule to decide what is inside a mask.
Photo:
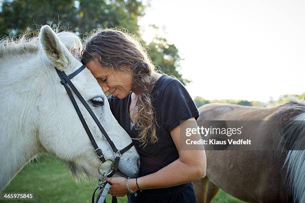
[[(83, 49), (82, 41), (73, 32), (62, 31), (58, 32), (58, 28), (54, 31), (62, 43), (69, 51), (78, 49), (79, 53)], [(6, 36), (0, 40), (0, 58), (8, 59), (13, 56), (20, 56), (23, 54), (36, 54), (40, 49), (39, 33), (29, 37), (29, 33), (19, 35), (16, 37)]]

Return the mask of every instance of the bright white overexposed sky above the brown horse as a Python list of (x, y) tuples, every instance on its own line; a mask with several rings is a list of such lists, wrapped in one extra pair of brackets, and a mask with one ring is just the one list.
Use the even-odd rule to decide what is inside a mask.
[(305, 92), (304, 10), (297, 0), (152, 0), (140, 26), (145, 40), (178, 48), (192, 98), (268, 102)]

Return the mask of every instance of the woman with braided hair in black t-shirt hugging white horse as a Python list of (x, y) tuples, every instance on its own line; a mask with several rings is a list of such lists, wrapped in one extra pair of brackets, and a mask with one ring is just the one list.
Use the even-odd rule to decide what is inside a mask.
[(112, 94), (111, 111), (140, 155), (139, 178), (108, 178), (109, 193), (123, 197), (129, 192), (129, 203), (196, 202), (190, 182), (205, 176), (206, 160), (204, 150), (179, 146), (180, 121), (199, 116), (184, 86), (175, 77), (154, 72), (139, 41), (118, 30), (93, 34), (82, 63), (103, 91)]

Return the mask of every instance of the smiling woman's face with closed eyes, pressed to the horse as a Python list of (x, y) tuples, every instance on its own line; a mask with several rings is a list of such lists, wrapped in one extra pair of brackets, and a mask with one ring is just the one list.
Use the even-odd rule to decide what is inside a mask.
[(113, 71), (112, 68), (101, 66), (95, 61), (86, 64), (97, 79), (104, 93), (109, 92), (119, 99), (126, 98), (132, 91), (132, 74), (128, 71)]

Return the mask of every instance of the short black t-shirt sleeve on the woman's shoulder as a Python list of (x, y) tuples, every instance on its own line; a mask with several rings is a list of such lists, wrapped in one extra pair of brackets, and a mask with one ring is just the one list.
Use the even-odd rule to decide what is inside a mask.
[(161, 122), (170, 131), (180, 121), (199, 117), (199, 111), (185, 87), (178, 80), (171, 81), (164, 90), (161, 104)]

